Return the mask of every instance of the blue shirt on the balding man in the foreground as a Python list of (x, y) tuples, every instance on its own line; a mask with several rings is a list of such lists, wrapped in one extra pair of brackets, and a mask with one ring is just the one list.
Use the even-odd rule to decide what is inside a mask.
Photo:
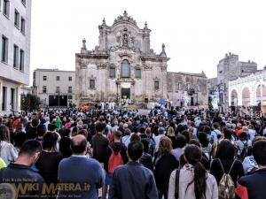
[(72, 156), (59, 164), (59, 183), (72, 185), (71, 188), (63, 186), (59, 198), (71, 198), (70, 195), (73, 195), (73, 198), (79, 199), (98, 199), (98, 188), (102, 187), (103, 181), (103, 169), (95, 159)]

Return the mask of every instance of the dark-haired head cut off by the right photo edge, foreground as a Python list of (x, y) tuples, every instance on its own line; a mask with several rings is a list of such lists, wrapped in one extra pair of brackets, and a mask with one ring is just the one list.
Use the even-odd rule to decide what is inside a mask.
[(259, 166), (266, 166), (266, 141), (254, 142), (252, 148), (254, 159)]

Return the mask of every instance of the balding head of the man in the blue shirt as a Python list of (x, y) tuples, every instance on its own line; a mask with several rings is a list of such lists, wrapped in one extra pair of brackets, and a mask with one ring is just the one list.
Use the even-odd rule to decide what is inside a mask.
[(87, 139), (84, 135), (78, 134), (73, 137), (70, 146), (74, 155), (85, 155), (87, 151)]

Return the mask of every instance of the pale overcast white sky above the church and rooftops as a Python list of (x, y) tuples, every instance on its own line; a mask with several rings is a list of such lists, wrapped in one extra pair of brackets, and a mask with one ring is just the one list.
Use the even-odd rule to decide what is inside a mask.
[[(266, 65), (266, 4), (259, 0), (32, 0), (31, 71), (74, 70), (82, 38), (87, 49), (98, 45), (98, 25), (127, 10), (151, 32), (151, 48), (166, 45), (168, 71), (216, 76), (225, 53)], [(32, 82), (32, 81), (31, 81)]]

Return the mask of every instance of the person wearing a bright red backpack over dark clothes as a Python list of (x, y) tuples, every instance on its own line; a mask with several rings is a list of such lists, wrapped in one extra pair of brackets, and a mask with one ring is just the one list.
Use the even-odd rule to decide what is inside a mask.
[(115, 131), (113, 134), (113, 142), (111, 142), (106, 148), (106, 181), (105, 188), (103, 188), (102, 199), (106, 199), (108, 186), (111, 185), (114, 169), (116, 169), (119, 165), (127, 164), (129, 161), (126, 146), (121, 142), (121, 136), (121, 131)]

